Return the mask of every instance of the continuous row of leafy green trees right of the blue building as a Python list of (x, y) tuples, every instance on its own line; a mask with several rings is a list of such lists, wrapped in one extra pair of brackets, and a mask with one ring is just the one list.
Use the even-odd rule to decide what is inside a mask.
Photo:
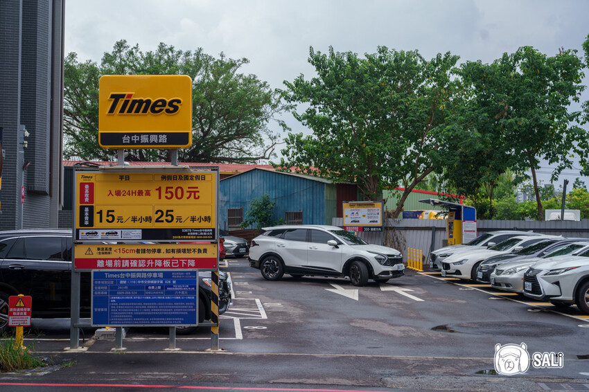
[[(589, 39), (584, 44), (589, 50)], [(491, 64), (438, 54), (426, 61), (417, 51), (384, 46), (373, 54), (327, 54), (310, 48), (317, 76), (285, 81), (285, 99), (306, 109), (294, 117), (312, 134), (289, 134), (276, 166), (358, 184), (376, 199), (403, 186), (405, 197), (437, 172), (459, 193), (489, 197), (501, 176), (522, 181), (531, 170), (538, 219), (543, 219), (536, 171), (555, 166), (556, 179), (573, 159), (586, 173), (587, 132), (579, 103), (585, 87), (576, 51), (554, 56), (523, 46)], [(585, 104), (589, 105), (589, 104)], [(511, 178), (511, 175), (510, 175)]]

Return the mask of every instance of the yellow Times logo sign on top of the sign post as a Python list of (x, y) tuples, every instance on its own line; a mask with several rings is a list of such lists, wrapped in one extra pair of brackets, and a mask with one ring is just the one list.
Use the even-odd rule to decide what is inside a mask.
[(101, 147), (191, 146), (192, 80), (188, 75), (105, 75), (99, 89)]

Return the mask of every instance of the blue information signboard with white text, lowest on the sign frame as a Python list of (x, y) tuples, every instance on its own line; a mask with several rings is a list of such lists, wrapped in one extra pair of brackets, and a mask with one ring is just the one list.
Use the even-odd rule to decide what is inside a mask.
[(92, 271), (93, 326), (195, 326), (197, 271)]

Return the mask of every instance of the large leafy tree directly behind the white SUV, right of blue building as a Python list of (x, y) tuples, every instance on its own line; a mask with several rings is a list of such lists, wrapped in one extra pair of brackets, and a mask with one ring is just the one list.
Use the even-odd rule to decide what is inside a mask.
[(310, 48), (317, 77), (285, 81), (285, 97), (308, 108), (294, 117), (313, 134), (289, 134), (276, 165), (358, 184), (367, 199), (404, 186), (392, 217), (411, 190), (434, 171), (454, 83), (455, 55), (425, 61), (417, 51), (384, 46), (364, 58)]

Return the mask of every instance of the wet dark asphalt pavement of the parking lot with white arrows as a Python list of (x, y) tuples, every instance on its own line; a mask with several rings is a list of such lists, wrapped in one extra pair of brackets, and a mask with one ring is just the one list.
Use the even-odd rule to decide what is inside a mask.
[[(485, 285), (407, 271), (379, 285), (345, 279), (270, 282), (225, 260), (234, 301), (211, 328), (177, 336), (130, 328), (124, 350), (95, 328), (69, 348), (69, 320), (34, 320), (25, 340), (49, 366), (0, 373), (0, 391), (589, 391), (589, 320)], [(495, 346), (563, 353), (563, 366), (496, 375)], [(547, 365), (545, 363), (544, 365)]]

